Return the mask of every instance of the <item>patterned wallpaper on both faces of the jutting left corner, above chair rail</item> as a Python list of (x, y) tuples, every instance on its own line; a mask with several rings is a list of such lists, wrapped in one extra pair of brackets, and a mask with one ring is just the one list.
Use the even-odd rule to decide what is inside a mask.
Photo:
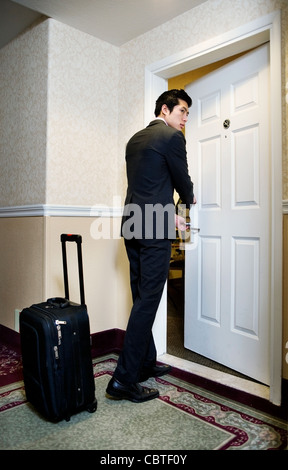
[(112, 204), (119, 54), (51, 19), (0, 50), (0, 207)]

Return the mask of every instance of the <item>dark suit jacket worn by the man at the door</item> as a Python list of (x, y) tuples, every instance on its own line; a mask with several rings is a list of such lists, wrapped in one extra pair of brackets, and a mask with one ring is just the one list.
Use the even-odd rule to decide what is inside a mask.
[(129, 140), (126, 171), (122, 236), (174, 239), (174, 189), (183, 204), (193, 204), (183, 133), (162, 119), (153, 120)]

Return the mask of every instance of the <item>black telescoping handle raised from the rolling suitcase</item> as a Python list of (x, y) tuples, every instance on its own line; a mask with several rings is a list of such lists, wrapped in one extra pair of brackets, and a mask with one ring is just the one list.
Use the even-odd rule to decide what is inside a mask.
[(75, 234), (70, 234), (70, 233), (67, 233), (67, 234), (62, 233), (61, 235), (65, 298), (67, 300), (69, 299), (66, 242), (76, 242), (77, 244), (80, 299), (81, 299), (81, 304), (85, 305), (83, 262), (82, 262), (82, 237), (81, 235), (75, 235)]

